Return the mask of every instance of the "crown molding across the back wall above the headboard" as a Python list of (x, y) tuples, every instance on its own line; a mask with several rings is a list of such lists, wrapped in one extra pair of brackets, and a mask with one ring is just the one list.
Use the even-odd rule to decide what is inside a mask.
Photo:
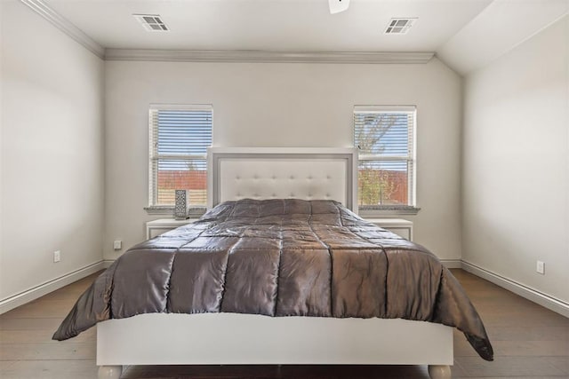
[(433, 52), (303, 52), (106, 49), (106, 60), (246, 63), (425, 64)]

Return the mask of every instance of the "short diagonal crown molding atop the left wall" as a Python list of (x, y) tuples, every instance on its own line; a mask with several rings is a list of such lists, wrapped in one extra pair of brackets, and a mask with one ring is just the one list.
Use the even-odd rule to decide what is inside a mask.
[(90, 36), (84, 34), (83, 30), (77, 28), (67, 19), (63, 18), (58, 12), (55, 12), (44, 0), (20, 0), (23, 4), (28, 5), (34, 12), (42, 16), (59, 28), (63, 33), (73, 38), (77, 43), (84, 46), (85, 49), (91, 51), (100, 59), (105, 58), (105, 48), (99, 43), (92, 40)]

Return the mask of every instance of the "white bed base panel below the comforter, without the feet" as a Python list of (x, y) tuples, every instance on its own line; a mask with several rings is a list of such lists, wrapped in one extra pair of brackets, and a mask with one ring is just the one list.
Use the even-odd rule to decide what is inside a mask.
[(97, 327), (97, 365), (452, 365), (453, 328), (410, 320), (152, 313)]

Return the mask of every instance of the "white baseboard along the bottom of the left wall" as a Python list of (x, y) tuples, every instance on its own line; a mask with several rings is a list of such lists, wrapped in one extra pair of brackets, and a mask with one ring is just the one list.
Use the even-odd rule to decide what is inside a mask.
[(92, 265), (86, 265), (74, 272), (69, 272), (59, 278), (46, 281), (34, 288), (29, 288), (26, 291), (20, 292), (20, 294), (6, 297), (5, 299), (0, 300), (0, 314), (8, 312), (20, 305), (27, 304), (32, 300), (36, 300), (36, 298), (47, 295), (56, 289), (65, 287), (68, 284), (83, 279), (85, 276), (91, 275), (94, 272), (103, 270), (110, 265), (110, 263), (108, 265), (106, 264), (106, 261), (101, 260)]

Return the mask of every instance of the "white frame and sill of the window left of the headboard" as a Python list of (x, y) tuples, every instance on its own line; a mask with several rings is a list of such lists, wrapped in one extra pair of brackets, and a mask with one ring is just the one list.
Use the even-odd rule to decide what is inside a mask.
[[(155, 124), (152, 122), (153, 113), (156, 111), (209, 111), (212, 117), (212, 136), (213, 136), (213, 106), (212, 104), (150, 104), (148, 106), (148, 206), (144, 207), (149, 215), (170, 215), (172, 216), (173, 205), (156, 205), (157, 190), (155, 172), (152, 169), (153, 161), (158, 159), (176, 158), (180, 159), (180, 155), (160, 155), (155, 154)], [(186, 159), (199, 159), (207, 163), (207, 153), (204, 154), (188, 154), (183, 155)], [(206, 164), (207, 166), (207, 164)], [(199, 217), (204, 214), (207, 209), (206, 205), (194, 206), (189, 209), (190, 217)]]

